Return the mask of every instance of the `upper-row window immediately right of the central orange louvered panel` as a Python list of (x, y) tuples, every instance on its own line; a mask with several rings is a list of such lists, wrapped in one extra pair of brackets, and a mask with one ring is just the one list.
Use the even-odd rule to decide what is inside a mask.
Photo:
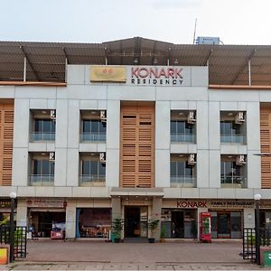
[(173, 142), (195, 142), (194, 125), (185, 120), (171, 120), (171, 140)]

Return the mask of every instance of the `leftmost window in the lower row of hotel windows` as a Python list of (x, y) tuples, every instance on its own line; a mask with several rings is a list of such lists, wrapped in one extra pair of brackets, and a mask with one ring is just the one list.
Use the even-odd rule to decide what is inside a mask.
[(46, 158), (33, 159), (31, 185), (52, 185), (54, 180), (54, 161)]

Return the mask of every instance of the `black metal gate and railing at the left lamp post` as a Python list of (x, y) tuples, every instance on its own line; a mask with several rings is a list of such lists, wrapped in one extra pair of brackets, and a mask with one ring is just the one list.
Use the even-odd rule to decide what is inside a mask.
[[(0, 226), (0, 243), (10, 244), (10, 225)], [(14, 257), (26, 257), (26, 227), (14, 229)]]

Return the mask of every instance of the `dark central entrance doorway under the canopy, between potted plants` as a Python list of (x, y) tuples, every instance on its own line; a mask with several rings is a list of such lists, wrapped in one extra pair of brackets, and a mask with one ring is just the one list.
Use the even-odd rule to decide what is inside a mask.
[(125, 237), (140, 237), (140, 207), (126, 206), (125, 208)]

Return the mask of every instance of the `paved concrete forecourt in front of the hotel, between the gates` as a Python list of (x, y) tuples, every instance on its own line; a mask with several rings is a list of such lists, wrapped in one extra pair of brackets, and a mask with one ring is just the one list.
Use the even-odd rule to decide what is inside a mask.
[[(258, 270), (243, 260), (241, 242), (107, 243), (35, 240), (27, 257), (4, 270)], [(266, 269), (267, 267), (265, 267)], [(0, 266), (1, 269), (1, 266)], [(267, 268), (268, 269), (268, 268)]]

